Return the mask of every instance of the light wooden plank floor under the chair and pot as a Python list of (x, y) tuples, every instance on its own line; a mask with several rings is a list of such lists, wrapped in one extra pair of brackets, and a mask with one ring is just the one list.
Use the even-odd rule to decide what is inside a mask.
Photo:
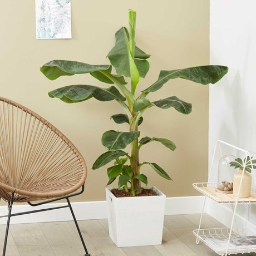
[[(215, 256), (204, 244), (196, 245), (192, 230), (198, 227), (199, 214), (165, 216), (163, 244), (145, 247), (118, 248), (109, 238), (107, 220), (78, 221), (87, 248), (92, 256)], [(205, 214), (202, 228), (223, 225)], [(5, 225), (0, 225), (2, 249)], [(82, 256), (81, 240), (73, 222), (14, 224), (10, 227), (6, 256)], [(237, 254), (252, 256), (256, 253)]]

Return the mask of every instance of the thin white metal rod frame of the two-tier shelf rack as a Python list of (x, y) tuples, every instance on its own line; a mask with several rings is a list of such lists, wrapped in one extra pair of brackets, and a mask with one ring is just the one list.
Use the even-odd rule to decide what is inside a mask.
[[(236, 149), (236, 150), (239, 150), (241, 151), (244, 155), (245, 155), (245, 159), (247, 159), (247, 157), (249, 156), (250, 157), (250, 153), (247, 151), (247, 150), (244, 150), (244, 149), (241, 149), (240, 147), (237, 147), (237, 146), (234, 146), (232, 144), (229, 144), (225, 141), (222, 141), (222, 140), (218, 140), (215, 144), (215, 147), (214, 147), (214, 153), (213, 153), (213, 158), (211, 160), (211, 165), (210, 165), (210, 172), (209, 172), (209, 178), (208, 178), (208, 184), (210, 183), (210, 178), (211, 178), (211, 174), (212, 174), (212, 169), (213, 169), (213, 163), (214, 163), (214, 157), (215, 157), (215, 153), (216, 153), (216, 149), (217, 149), (217, 146), (219, 146), (219, 151), (220, 151), (220, 155), (221, 157), (223, 156), (222, 154), (222, 150), (221, 150), (221, 145), (226, 145), (226, 146), (229, 146), (229, 147), (232, 147), (233, 149)], [(252, 159), (250, 157), (250, 164), (253, 166), (253, 163), (252, 163)], [(252, 169), (253, 170), (253, 169)], [(234, 203), (232, 205), (234, 205), (234, 208), (233, 208), (233, 216), (232, 216), (232, 223), (230, 225), (230, 229), (229, 229), (229, 234), (228, 234), (228, 243), (227, 243), (227, 249), (226, 249), (226, 252), (224, 254), (220, 254), (220, 255), (225, 255), (227, 256), (228, 254), (232, 254), (234, 253), (234, 250), (229, 250), (229, 244), (230, 244), (230, 238), (232, 238), (232, 234), (233, 234), (233, 225), (234, 225), (234, 220), (235, 220), (235, 213), (237, 211), (237, 205), (239, 204), (239, 194), (240, 194), (240, 189), (241, 189), (241, 186), (242, 186), (242, 180), (243, 180), (243, 176), (244, 176), (244, 172), (245, 172), (245, 165), (243, 167), (243, 173), (242, 173), (242, 176), (241, 176), (241, 181), (240, 181), (240, 184), (239, 184), (239, 189), (238, 189), (238, 196), (237, 198), (235, 199)], [(255, 181), (255, 177), (254, 177), (254, 172), (252, 171), (252, 176), (253, 176), (253, 179)], [(199, 183), (198, 183), (199, 184)], [(194, 185), (193, 185), (194, 186)], [(196, 185), (194, 186), (194, 188), (197, 187)], [(197, 187), (198, 188), (198, 187)], [(195, 188), (196, 190), (198, 190), (197, 188)], [(200, 190), (199, 190), (200, 191)], [(201, 191), (200, 191), (201, 192)], [(203, 230), (201, 229), (201, 221), (203, 219), (203, 213), (204, 213), (204, 209), (205, 209), (205, 202), (206, 202), (206, 196), (208, 196), (209, 198), (211, 198), (211, 196), (209, 196), (208, 194), (205, 194), (205, 199), (204, 199), (204, 204), (203, 204), (203, 209), (201, 211), (201, 216), (200, 216), (200, 221), (199, 221), (199, 227), (197, 229), (197, 233), (196, 233), (196, 230), (194, 230), (194, 234), (196, 235), (196, 244), (199, 244), (200, 240), (202, 242), (205, 243), (205, 240), (203, 239), (203, 237), (201, 237), (199, 235), (199, 232), (200, 230)], [(213, 199), (213, 198), (211, 198)], [(205, 243), (206, 245), (209, 246), (209, 244)], [(211, 249), (213, 249), (211, 246), (209, 246)], [(216, 250), (213, 249), (215, 252)], [(248, 250), (246, 250), (246, 252), (248, 252)], [(252, 252), (252, 251), (250, 251)], [(256, 249), (253, 250), (253, 252), (256, 252)], [(218, 253), (218, 252), (216, 252)], [(245, 253), (245, 250), (237, 250), (236, 253)]]

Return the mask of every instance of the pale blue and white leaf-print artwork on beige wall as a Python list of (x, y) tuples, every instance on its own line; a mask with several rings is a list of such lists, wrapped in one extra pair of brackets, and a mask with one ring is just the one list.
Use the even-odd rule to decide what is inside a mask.
[(71, 38), (71, 0), (36, 0), (36, 38)]

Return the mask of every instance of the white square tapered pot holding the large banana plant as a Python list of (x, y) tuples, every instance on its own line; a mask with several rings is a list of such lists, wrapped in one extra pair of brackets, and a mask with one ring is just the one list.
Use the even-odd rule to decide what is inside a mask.
[(106, 188), (109, 235), (117, 247), (156, 245), (162, 243), (165, 195), (116, 198)]

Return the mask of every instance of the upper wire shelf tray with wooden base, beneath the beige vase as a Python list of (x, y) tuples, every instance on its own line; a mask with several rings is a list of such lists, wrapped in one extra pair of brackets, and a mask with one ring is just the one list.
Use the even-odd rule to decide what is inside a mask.
[[(218, 183), (193, 183), (193, 188), (201, 194), (208, 196), (218, 203), (232, 204), (237, 200), (233, 194), (218, 193), (215, 189)], [(256, 204), (256, 188), (252, 187), (252, 194), (249, 198), (238, 198), (239, 204)]]

